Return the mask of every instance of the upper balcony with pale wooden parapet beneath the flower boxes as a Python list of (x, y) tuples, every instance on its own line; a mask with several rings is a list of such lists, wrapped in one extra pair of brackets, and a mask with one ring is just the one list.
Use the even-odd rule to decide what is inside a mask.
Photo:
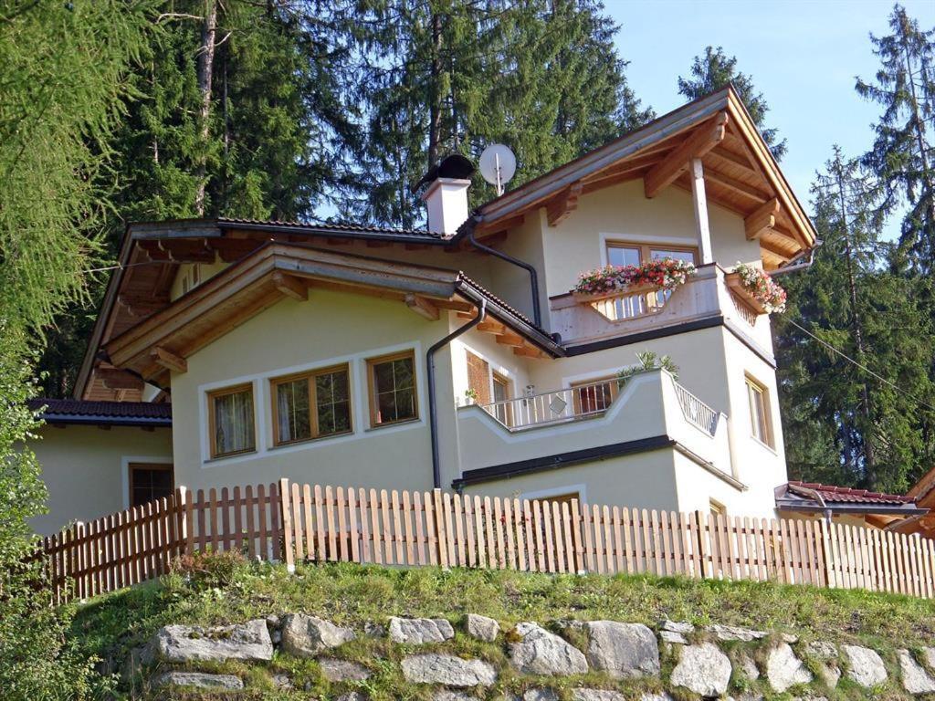
[(576, 345), (722, 317), (769, 349), (769, 318), (730, 282), (723, 268), (711, 264), (698, 267), (672, 291), (640, 287), (593, 296), (560, 294), (551, 299), (552, 329), (564, 343)]

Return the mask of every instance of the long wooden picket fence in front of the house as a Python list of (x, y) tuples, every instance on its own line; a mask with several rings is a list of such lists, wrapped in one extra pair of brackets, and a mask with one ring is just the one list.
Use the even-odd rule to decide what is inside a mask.
[(290, 484), (193, 494), (45, 538), (57, 601), (159, 577), (198, 551), (299, 562), (774, 580), (935, 598), (935, 541), (824, 521)]

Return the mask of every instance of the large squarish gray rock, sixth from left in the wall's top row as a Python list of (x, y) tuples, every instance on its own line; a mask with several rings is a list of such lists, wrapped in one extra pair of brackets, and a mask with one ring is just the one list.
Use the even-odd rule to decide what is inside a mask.
[(587, 661), (613, 679), (659, 674), (659, 647), (653, 631), (640, 623), (585, 623)]

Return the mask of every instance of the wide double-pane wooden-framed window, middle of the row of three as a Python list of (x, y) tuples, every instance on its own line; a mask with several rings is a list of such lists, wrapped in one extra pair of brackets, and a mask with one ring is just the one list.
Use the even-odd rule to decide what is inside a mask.
[(352, 432), (348, 365), (271, 379), (270, 386), (274, 445)]

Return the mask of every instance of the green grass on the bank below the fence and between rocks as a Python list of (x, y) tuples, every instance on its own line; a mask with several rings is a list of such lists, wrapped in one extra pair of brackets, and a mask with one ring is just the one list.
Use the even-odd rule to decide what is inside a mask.
[[(887, 665), (895, 663), (897, 647), (914, 649), (935, 640), (935, 605), (892, 594), (648, 576), (446, 572), (429, 567), (404, 570), (346, 564), (299, 565), (290, 575), (277, 565), (237, 562), (237, 558), (217, 560), (207, 567), (189, 567), (185, 573), (176, 572), (159, 582), (108, 594), (83, 605), (72, 627), (72, 640), (86, 654), (120, 661), (167, 623), (242, 622), (290, 611), (313, 613), (352, 625), (358, 631), (363, 631), (366, 622), (385, 622), (391, 615), (441, 616), (451, 620), (457, 629), (467, 612), (495, 618), (505, 631), (521, 621), (537, 621), (558, 630), (556, 622), (565, 619), (611, 619), (651, 626), (663, 618), (698, 626), (719, 622), (795, 633), (803, 642), (831, 639), (867, 645), (881, 651)], [(375, 701), (428, 698), (427, 692), (407, 687), (401, 680), (397, 663), (406, 651), (399, 646), (362, 636), (345, 648), (343, 656), (357, 659), (374, 672), (360, 688)], [(505, 639), (482, 644), (459, 634), (433, 650), (495, 662), (504, 670), (497, 692), (522, 691), (535, 685), (536, 680), (512, 677), (509, 665), (503, 665)], [(672, 664), (673, 660), (664, 659), (664, 665)], [(337, 698), (337, 687), (332, 688), (334, 685), (321, 678), (317, 665), (308, 660), (280, 656), (268, 669), (219, 665), (219, 671), (224, 669), (245, 675), (248, 686), (255, 690), (229, 694), (231, 698), (307, 698), (309, 694)], [(308, 687), (308, 693), (276, 691), (268, 674), (279, 671), (288, 673), (299, 690)], [(609, 684), (609, 680), (591, 674), (583, 680), (564, 680), (557, 687), (554, 681), (549, 685), (567, 698), (570, 687), (583, 681), (595, 686)], [(657, 685), (657, 681), (644, 681), (630, 688), (634, 693), (652, 691), (654, 683)], [(740, 691), (744, 683), (738, 680), (735, 691)], [(754, 686), (758, 691), (768, 691), (763, 684)], [(829, 699), (862, 697), (853, 694), (846, 684), (841, 694), (835, 691), (826, 695)], [(211, 697), (224, 698), (223, 694)]]

